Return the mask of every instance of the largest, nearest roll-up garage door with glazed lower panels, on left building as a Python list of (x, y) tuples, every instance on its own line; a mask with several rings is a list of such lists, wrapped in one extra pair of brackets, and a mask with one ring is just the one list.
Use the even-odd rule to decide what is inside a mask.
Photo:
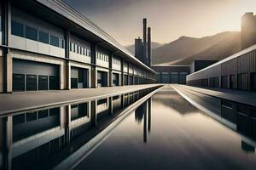
[(13, 59), (13, 91), (59, 89), (59, 66)]

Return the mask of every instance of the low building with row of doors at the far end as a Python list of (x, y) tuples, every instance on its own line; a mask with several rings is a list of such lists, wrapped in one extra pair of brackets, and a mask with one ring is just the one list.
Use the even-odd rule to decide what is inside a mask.
[(158, 83), (186, 84), (186, 76), (190, 73), (190, 65), (152, 65), (157, 72)]

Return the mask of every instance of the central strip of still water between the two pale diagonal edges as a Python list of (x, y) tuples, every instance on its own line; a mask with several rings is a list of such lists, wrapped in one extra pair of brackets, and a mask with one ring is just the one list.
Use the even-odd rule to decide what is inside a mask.
[[(214, 109), (222, 111), (220, 105)], [(76, 169), (256, 169), (256, 156), (247, 138), (164, 89), (133, 111)]]

